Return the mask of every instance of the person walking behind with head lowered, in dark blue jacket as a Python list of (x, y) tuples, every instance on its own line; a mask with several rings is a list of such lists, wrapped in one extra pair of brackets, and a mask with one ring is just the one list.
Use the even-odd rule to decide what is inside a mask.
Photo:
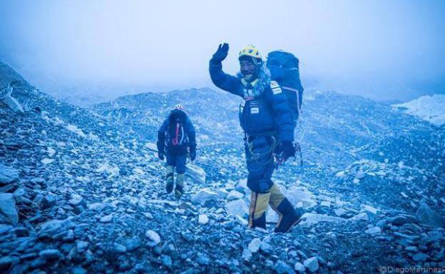
[(158, 157), (167, 158), (165, 172), (165, 190), (173, 191), (175, 185), (174, 173), (176, 168), (175, 196), (180, 198), (184, 192), (185, 164), (187, 157), (191, 161), (196, 158), (195, 127), (185, 113), (183, 105), (175, 105), (167, 119), (158, 130)]

